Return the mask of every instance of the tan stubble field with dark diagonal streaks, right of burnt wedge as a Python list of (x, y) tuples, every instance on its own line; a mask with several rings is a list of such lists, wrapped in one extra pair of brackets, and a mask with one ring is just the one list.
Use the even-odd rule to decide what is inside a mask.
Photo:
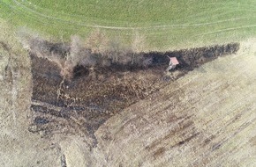
[(242, 42), (236, 55), (209, 62), (110, 118), (96, 132), (96, 160), (110, 166), (255, 166), (254, 43)]

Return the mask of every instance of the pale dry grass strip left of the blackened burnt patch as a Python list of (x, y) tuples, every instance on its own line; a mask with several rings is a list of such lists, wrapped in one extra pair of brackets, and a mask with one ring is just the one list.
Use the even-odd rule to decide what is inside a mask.
[(59, 149), (27, 131), (31, 63), (11, 26), (0, 18), (0, 166), (58, 166)]

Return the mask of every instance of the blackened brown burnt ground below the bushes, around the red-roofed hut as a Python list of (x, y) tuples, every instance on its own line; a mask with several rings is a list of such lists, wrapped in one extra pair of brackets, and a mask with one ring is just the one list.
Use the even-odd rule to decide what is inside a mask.
[[(57, 45), (54, 45), (56, 47)], [(53, 48), (54, 49), (54, 48)], [(58, 52), (59, 48), (56, 48)], [(60, 75), (59, 67), (46, 58), (31, 54), (33, 75), (32, 111), (34, 120), (29, 130), (80, 134), (94, 138), (94, 132), (111, 116), (148, 95), (160, 90), (172, 80), (187, 74), (218, 56), (235, 54), (238, 43), (199, 47), (172, 52), (140, 53), (151, 58), (149, 66), (112, 63), (108, 67), (76, 66), (71, 80)], [(64, 51), (66, 52), (66, 51)], [(178, 75), (167, 82), (168, 56), (177, 57)]]

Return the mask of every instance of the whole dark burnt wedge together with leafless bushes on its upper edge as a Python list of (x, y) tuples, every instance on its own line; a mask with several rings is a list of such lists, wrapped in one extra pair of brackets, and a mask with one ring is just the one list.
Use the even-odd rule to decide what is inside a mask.
[[(126, 50), (118, 40), (108, 41), (107, 45), (103, 37), (94, 33), (89, 39), (95, 45), (91, 48), (85, 47), (78, 36), (72, 36), (71, 44), (21, 38), (24, 46), (27, 43), (32, 62), (34, 122), (29, 131), (43, 136), (86, 134), (95, 141), (94, 147), (94, 132), (111, 116), (147, 98), (170, 80), (219, 56), (235, 54), (239, 48), (239, 44), (231, 43), (166, 53), (136, 53)], [(108, 49), (99, 49), (101, 41)], [(180, 64), (175, 72), (165, 75), (168, 56), (176, 56)]]

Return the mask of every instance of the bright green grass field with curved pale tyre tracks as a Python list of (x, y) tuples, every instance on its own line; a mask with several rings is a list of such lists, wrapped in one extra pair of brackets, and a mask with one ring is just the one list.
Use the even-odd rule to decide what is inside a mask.
[(108, 38), (146, 50), (237, 41), (256, 35), (255, 0), (1, 0), (0, 17), (52, 39), (83, 38), (99, 29)]

